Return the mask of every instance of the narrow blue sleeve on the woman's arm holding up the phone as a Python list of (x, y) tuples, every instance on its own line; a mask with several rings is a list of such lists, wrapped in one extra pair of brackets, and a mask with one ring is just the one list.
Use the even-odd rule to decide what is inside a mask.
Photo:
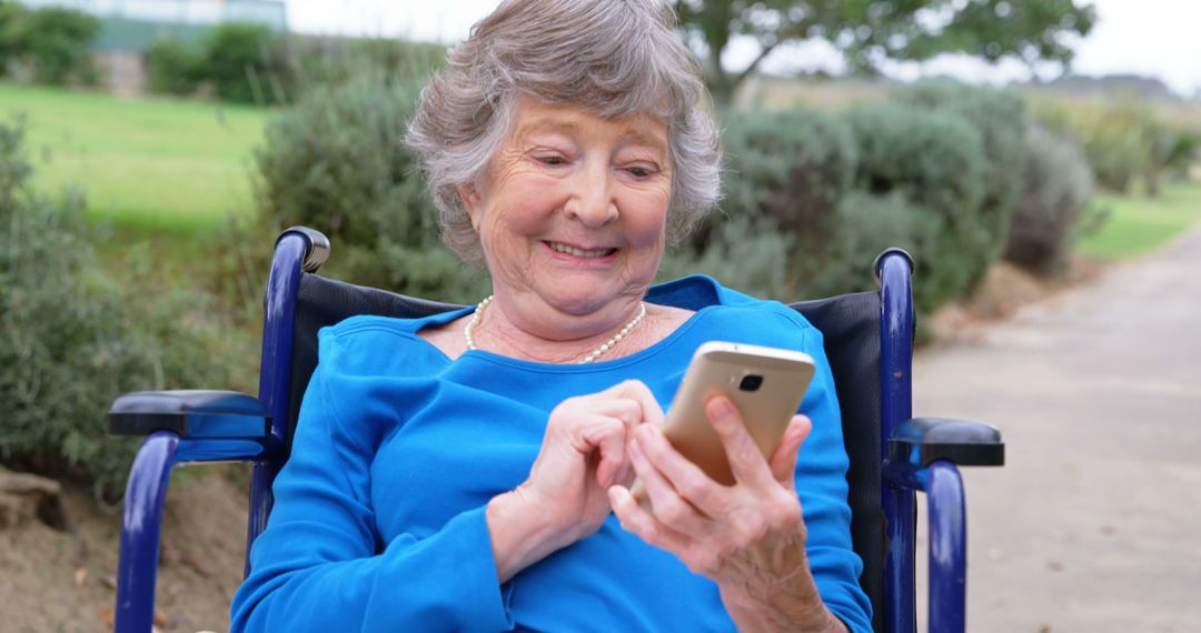
[(817, 364), (801, 403), (801, 412), (813, 421), (813, 430), (801, 445), (796, 462), (796, 490), (808, 529), (805, 551), (826, 608), (853, 633), (870, 632), (872, 605), (859, 585), (864, 563), (850, 539), (847, 502), (850, 463), (842, 440), (842, 415), (821, 332), (814, 327), (805, 332), (805, 351)]

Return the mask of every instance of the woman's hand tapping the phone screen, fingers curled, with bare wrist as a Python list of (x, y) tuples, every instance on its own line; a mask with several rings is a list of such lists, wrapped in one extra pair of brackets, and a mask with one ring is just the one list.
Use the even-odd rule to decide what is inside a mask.
[(608, 488), (634, 477), (626, 452), (632, 429), (662, 420), (651, 390), (638, 380), (568, 398), (550, 412), (530, 477), (488, 504), (502, 583), (600, 528), (610, 511)]

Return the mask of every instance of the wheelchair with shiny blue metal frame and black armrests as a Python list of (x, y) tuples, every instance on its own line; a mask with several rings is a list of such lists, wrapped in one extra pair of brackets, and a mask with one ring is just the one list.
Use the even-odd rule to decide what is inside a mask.
[[(267, 525), (271, 482), (287, 460), (300, 399), (317, 363), (317, 331), (355, 314), (425, 316), (459, 306), (323, 278), (329, 240), (313, 229), (285, 230), (264, 297), (259, 392), (138, 392), (118, 398), (109, 433), (145, 436), (125, 494), (116, 587), (116, 633), (145, 633), (154, 620), (155, 579), (167, 478), (181, 463), (252, 464), (250, 545)], [(873, 263), (879, 291), (793, 303), (825, 339), (850, 457), (849, 505), (860, 584), (876, 632), (916, 631), (916, 492), (927, 495), (928, 628), (966, 626), (967, 522), (957, 466), (1004, 464), (1000, 433), (988, 424), (912, 418), (915, 318), (913, 259), (888, 249)]]

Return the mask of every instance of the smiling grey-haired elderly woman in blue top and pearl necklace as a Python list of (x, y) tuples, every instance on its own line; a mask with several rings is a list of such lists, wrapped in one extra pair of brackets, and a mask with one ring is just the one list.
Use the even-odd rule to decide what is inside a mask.
[[(408, 144), (492, 295), (321, 332), (234, 629), (868, 629), (821, 334), (706, 277), (651, 285), (718, 195), (670, 13), (509, 0), (432, 79)], [(713, 338), (819, 367), (767, 459), (709, 402), (734, 486), (659, 428)]]

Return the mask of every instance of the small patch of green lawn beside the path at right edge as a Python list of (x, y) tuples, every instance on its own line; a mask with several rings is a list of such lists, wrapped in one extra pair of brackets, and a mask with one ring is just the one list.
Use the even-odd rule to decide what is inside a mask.
[(1201, 182), (1165, 186), (1157, 198), (1099, 195), (1111, 210), (1101, 230), (1081, 239), (1078, 248), (1101, 259), (1128, 259), (1149, 253), (1181, 231), (1201, 223)]

